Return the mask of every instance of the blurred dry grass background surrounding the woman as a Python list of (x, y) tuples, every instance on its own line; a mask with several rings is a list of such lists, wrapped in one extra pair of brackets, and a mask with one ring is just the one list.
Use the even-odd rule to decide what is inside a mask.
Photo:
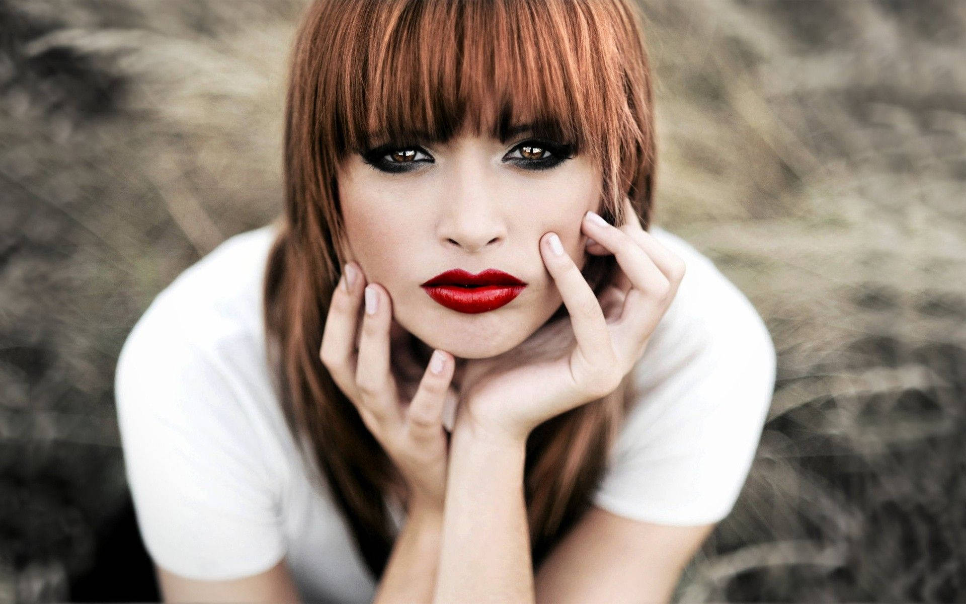
[[(655, 222), (779, 352), (676, 599), (966, 601), (966, 3), (641, 6)], [(178, 273), (280, 212), (304, 7), (0, 0), (0, 603), (156, 598), (115, 361)]]

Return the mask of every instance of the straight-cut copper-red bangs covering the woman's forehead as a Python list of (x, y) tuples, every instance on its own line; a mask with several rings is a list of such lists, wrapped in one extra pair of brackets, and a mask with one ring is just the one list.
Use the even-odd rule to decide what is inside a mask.
[(328, 106), (316, 116), (335, 162), (378, 144), (446, 141), (461, 129), (504, 142), (526, 130), (588, 154), (605, 192), (626, 194), (634, 177), (619, 174), (620, 164), (651, 159), (640, 157), (651, 132), (629, 98), (630, 80), (644, 70), (628, 63), (642, 46), (621, 47), (639, 41), (620, 4), (327, 4), (341, 13), (342, 31), (323, 50), (330, 61), (319, 92)]

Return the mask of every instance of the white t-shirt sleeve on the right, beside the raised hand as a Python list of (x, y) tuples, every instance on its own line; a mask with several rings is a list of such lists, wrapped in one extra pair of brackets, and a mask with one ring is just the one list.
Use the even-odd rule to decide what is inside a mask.
[[(703, 267), (694, 273), (693, 279), (713, 275)], [(692, 300), (676, 309), (677, 326), (636, 365), (642, 393), (594, 493), (600, 507), (635, 520), (696, 526), (722, 520), (737, 501), (777, 363), (751, 302), (718, 279), (700, 297), (692, 287)]]

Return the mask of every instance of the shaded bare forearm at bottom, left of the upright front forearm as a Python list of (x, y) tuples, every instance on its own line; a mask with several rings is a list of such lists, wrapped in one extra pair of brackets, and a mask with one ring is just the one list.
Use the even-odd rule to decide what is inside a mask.
[(429, 602), (440, 562), (442, 516), (413, 506), (386, 562), (373, 602)]

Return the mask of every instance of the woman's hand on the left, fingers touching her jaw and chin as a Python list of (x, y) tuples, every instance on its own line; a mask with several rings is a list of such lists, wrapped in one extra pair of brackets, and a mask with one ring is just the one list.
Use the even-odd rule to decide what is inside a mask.
[[(363, 300), (365, 312), (360, 313)], [(391, 322), (389, 293), (378, 284), (367, 285), (351, 262), (332, 293), (319, 357), (405, 478), (410, 513), (418, 505), (441, 514), (448, 465), (442, 413), (454, 360), (434, 351), (412, 401), (400, 400), (389, 359)]]

